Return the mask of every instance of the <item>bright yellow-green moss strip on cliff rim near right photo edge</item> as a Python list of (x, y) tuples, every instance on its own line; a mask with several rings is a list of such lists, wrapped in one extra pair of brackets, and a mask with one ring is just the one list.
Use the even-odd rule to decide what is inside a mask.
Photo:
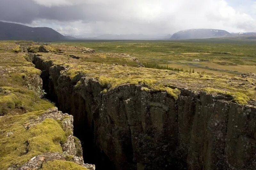
[(213, 88), (204, 88), (203, 91), (208, 92), (208, 93), (217, 93), (217, 94), (221, 94), (224, 96), (230, 96), (233, 98), (233, 102), (241, 104), (241, 105), (246, 105), (248, 104), (247, 102), (250, 100), (250, 98), (248, 96), (246, 96), (245, 94), (241, 93), (241, 92), (225, 92), (219, 89), (213, 89)]

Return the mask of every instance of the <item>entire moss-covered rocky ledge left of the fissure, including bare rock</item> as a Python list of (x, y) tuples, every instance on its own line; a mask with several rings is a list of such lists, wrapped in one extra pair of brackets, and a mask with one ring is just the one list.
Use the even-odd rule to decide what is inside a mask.
[(0, 46), (0, 169), (95, 170), (84, 164), (73, 116), (42, 98), (42, 72), (31, 63), (34, 56), (25, 56), (27, 48), (15, 42)]

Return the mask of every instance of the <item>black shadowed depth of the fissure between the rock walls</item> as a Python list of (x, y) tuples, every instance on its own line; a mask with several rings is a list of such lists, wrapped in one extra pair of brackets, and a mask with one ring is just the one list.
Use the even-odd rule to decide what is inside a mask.
[[(56, 107), (58, 107), (59, 110), (62, 111), (63, 113), (75, 115), (76, 120), (74, 121), (74, 136), (76, 136), (81, 141), (84, 162), (89, 164), (95, 164), (97, 166), (97, 169), (99, 170), (103, 166), (109, 166), (108, 165), (109, 163), (107, 163), (107, 165), (106, 163), (104, 163), (104, 162), (107, 162), (106, 160), (104, 161), (104, 159), (107, 159), (107, 157), (105, 155), (99, 155), (101, 153), (97, 152), (95, 144), (93, 143), (94, 142), (93, 139), (95, 138), (93, 133), (94, 123), (92, 122), (92, 127), (88, 127), (87, 120), (85, 119), (87, 115), (86, 108), (85, 108), (87, 105), (86, 101), (80, 96), (72, 96), (72, 99), (75, 100), (75, 102), (73, 103), (73, 106), (75, 107), (73, 108), (80, 107), (80, 109), (74, 110), (69, 108), (68, 105), (63, 106), (61, 103), (58, 102), (58, 97), (57, 97), (58, 95), (54, 90), (54, 84), (52, 80), (49, 78), (50, 77), (49, 72), (47, 72), (46, 70), (42, 70), (42, 74), (40, 75), (40, 77), (43, 80), (43, 90), (46, 93), (44, 98), (55, 103)], [(73, 113), (73, 112), (76, 112), (76, 113)], [(80, 115), (79, 121), (77, 121), (76, 114)]]

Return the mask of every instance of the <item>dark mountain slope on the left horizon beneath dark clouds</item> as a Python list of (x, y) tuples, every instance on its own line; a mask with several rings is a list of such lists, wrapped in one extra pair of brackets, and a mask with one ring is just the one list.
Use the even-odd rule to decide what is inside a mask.
[(48, 27), (29, 27), (0, 21), (0, 40), (61, 41), (70, 37)]

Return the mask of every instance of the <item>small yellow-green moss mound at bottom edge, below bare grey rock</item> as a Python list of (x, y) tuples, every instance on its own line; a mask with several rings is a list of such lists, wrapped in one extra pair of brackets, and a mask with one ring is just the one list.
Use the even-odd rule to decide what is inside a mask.
[(65, 160), (53, 160), (43, 164), (41, 170), (88, 170), (74, 162)]

